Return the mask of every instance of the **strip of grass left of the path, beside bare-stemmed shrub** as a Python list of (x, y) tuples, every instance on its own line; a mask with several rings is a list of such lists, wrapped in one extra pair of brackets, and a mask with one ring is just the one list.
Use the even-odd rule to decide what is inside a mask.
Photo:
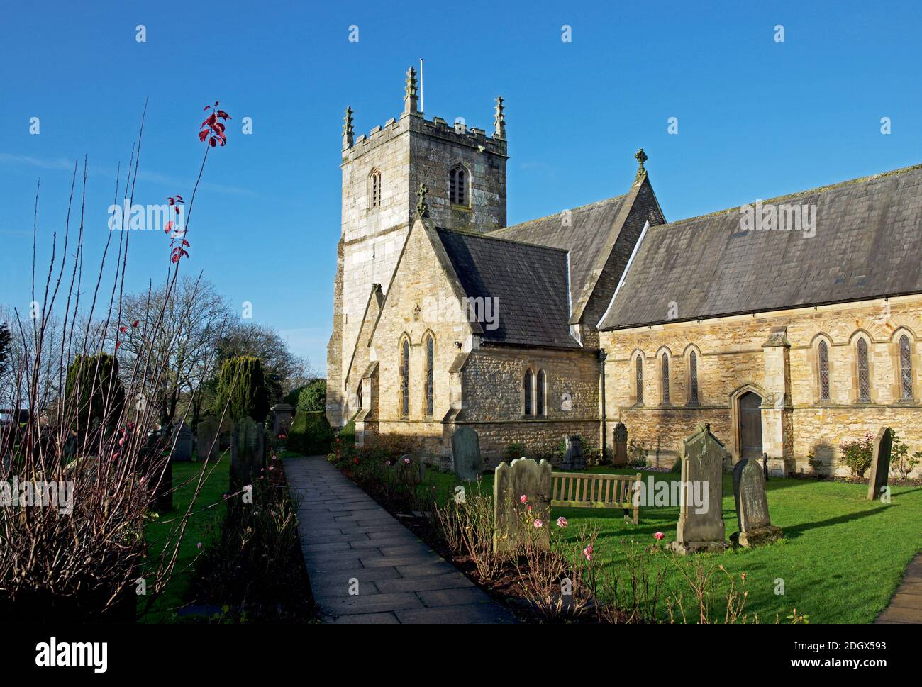
[[(207, 466), (207, 481), (202, 485), (202, 491), (199, 492), (195, 502), (193, 515), (189, 517), (186, 525), (170, 584), (139, 622), (170, 622), (175, 610), (185, 604), (183, 594), (195, 573), (192, 567), (195, 559), (202, 551), (205, 551), (208, 542), (218, 534), (218, 529), (227, 511), (223, 494), (228, 490), (230, 466), (230, 450), (220, 456), (216, 466)], [(161, 513), (159, 518), (150, 520), (146, 531), (148, 551), (150, 557), (154, 559), (154, 565), (156, 565), (156, 559), (160, 557), (160, 551), (163, 550), (163, 542), (169, 538), (174, 528), (179, 527), (180, 518), (192, 500), (201, 470), (202, 464), (198, 462), (173, 463), (173, 488), (176, 490), (173, 492), (173, 509), (169, 513)], [(217, 505), (207, 507), (214, 503)], [(198, 548), (198, 542), (202, 542), (202, 549)], [(138, 599), (140, 609), (143, 597), (138, 597)]]

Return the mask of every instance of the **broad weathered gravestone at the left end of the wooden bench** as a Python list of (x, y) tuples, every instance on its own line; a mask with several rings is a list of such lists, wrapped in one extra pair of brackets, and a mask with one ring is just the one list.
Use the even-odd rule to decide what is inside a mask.
[(516, 458), (500, 463), (493, 475), (493, 552), (518, 551), (529, 540), (549, 547), (550, 463)]

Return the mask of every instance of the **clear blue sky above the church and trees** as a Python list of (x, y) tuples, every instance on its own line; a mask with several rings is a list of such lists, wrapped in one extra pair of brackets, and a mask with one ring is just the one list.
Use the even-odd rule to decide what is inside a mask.
[[(920, 19), (916, 2), (6, 6), (0, 303), (28, 309), (40, 177), (41, 264), (63, 231), (74, 160), (89, 156), (91, 263), (145, 99), (141, 204), (189, 198), (202, 110), (219, 100), (233, 116), (229, 143), (209, 155), (184, 269), (235, 305), (252, 302), (255, 320), (323, 371), (342, 111), (356, 111), (357, 135), (398, 116), (403, 74), (420, 57), (428, 118), (490, 130), (493, 99), (505, 97), (510, 224), (624, 193), (641, 147), (667, 219), (681, 219), (922, 161)], [(143, 231), (132, 243), (128, 287), (142, 290), (162, 278), (169, 242)]]

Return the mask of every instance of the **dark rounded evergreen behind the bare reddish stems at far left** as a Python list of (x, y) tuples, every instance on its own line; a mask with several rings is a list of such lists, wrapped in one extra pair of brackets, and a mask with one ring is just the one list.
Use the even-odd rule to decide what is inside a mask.
[(107, 353), (78, 355), (67, 368), (65, 395), (67, 408), (75, 415), (71, 428), (81, 437), (93, 420), (111, 425), (124, 408), (118, 361)]

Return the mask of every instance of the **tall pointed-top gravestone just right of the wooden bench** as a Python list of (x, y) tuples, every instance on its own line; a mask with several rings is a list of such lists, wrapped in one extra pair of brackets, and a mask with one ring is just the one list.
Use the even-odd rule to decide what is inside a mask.
[(676, 540), (669, 546), (680, 555), (725, 551), (722, 506), (727, 449), (711, 433), (710, 424), (702, 424), (681, 449), (679, 524)]

